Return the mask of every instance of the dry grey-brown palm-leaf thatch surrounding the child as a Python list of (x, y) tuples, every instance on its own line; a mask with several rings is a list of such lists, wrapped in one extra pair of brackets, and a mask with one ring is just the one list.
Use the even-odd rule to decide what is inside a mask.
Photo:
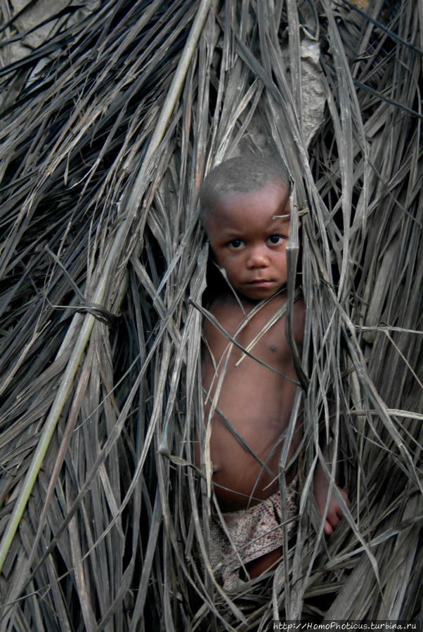
[[(25, 9), (1, 10), (1, 630), (422, 619), (422, 4), (64, 4), (32, 49)], [(263, 145), (294, 180), (293, 227), (301, 212), (297, 540), (227, 594), (193, 454), (198, 191)], [(351, 499), (330, 540), (310, 489), (322, 428)]]

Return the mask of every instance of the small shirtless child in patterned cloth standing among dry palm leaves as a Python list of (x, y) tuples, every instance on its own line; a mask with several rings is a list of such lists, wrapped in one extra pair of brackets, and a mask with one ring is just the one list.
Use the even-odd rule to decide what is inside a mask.
[[(211, 423), (211, 480), (225, 523), (225, 527), (219, 520), (211, 524), (210, 557), (212, 565), (226, 560), (220, 574), (226, 589), (235, 588), (239, 579), (259, 576), (282, 553), (278, 462), (298, 384), (283, 309), (289, 194), (282, 165), (257, 156), (221, 163), (200, 192), (202, 224), (222, 274), (208, 307), (214, 318), (204, 318), (202, 384), (204, 418)], [(298, 299), (292, 325), (299, 348), (304, 312), (304, 301)], [(288, 463), (300, 440), (297, 427)], [(297, 513), (295, 463), (285, 475), (287, 515), (292, 519)], [(327, 479), (317, 468), (314, 490), (320, 515), (327, 489)], [(345, 492), (341, 494), (347, 500)], [(332, 497), (326, 534), (341, 517)], [(287, 525), (288, 533), (293, 524)]]

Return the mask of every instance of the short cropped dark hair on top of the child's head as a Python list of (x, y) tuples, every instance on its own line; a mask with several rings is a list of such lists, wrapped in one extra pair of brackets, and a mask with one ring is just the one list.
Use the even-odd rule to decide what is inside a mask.
[(211, 169), (200, 188), (200, 219), (205, 227), (215, 202), (227, 195), (260, 191), (266, 184), (279, 181), (291, 193), (291, 180), (285, 165), (275, 157), (249, 154), (235, 156)]

